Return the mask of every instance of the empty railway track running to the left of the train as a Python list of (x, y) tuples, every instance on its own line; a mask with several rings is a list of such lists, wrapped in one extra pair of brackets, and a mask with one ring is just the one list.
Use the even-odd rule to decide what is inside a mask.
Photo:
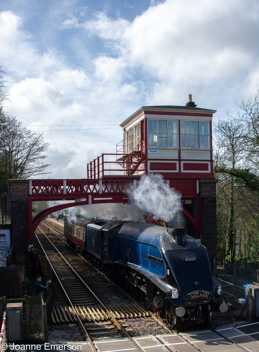
[[(65, 313), (64, 315), (62, 312), (63, 316), (79, 323), (84, 336), (96, 351), (98, 349), (94, 339), (126, 337), (135, 345), (123, 324), (116, 318), (112, 307), (109, 309), (105, 303), (99, 300), (46, 235), (42, 232), (41, 235), (36, 235), (36, 238), (70, 304), (68, 308), (63, 309)], [(134, 307), (134, 310), (135, 312), (139, 311), (138, 307)], [(149, 313), (143, 312), (143, 310), (138, 314), (149, 316)], [(68, 321), (68, 318), (65, 320)], [(138, 351), (143, 351), (139, 346), (135, 347)]]

